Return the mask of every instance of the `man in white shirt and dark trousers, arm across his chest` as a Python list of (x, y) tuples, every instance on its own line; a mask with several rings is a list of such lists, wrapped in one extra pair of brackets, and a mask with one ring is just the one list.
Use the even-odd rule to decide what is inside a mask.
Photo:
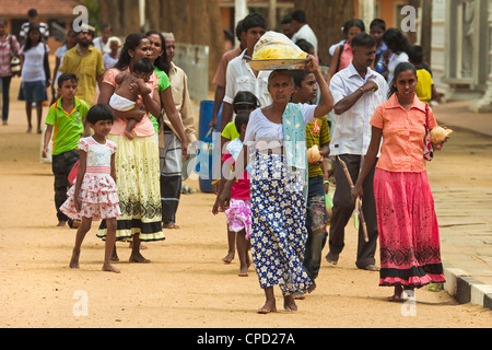
[[(371, 142), (368, 124), (376, 106), (387, 100), (386, 80), (373, 71), (376, 42), (367, 33), (352, 38), (353, 60), (350, 66), (333, 75), (330, 91), (335, 101), (336, 125), (330, 142), (330, 154), (340, 156), (347, 164), (353, 183)], [(365, 242), (362, 225), (359, 228), (359, 245), (355, 265), (360, 269), (378, 270), (375, 266), (377, 245), (377, 220), (373, 191), (374, 168), (364, 183), (362, 211), (367, 224), (368, 242)], [(350, 185), (340, 162), (335, 164), (337, 189), (333, 197), (333, 211), (330, 223), (328, 262), (337, 264), (343, 249), (344, 228), (352, 215), (355, 203), (350, 194)]]

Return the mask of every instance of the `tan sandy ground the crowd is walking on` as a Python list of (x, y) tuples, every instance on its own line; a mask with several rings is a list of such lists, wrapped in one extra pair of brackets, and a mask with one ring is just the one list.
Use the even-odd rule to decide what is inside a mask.
[[(16, 86), (14, 81), (13, 96)], [(226, 254), (225, 218), (212, 215), (214, 197), (200, 191), (181, 196), (179, 230), (166, 231), (163, 242), (145, 244), (143, 254), (151, 264), (127, 262), (128, 244), (118, 243), (121, 273), (102, 272), (104, 243), (95, 237), (94, 222), (80, 269), (70, 269), (75, 231), (56, 228), (50, 164), (39, 162), (39, 136), (25, 133), (23, 108), (13, 102), (9, 126), (0, 127), (0, 327), (492, 326), (490, 311), (459, 305), (445, 291), (419, 290), (415, 315), (408, 315), (408, 305), (386, 302), (391, 289), (377, 285), (378, 273), (355, 268), (352, 223), (339, 264), (324, 261), (317, 289), (297, 302), (297, 312), (282, 310), (277, 288), (279, 312), (258, 315), (263, 293), (256, 273), (250, 268), (249, 277), (238, 277), (237, 258), (231, 265), (221, 261)], [(461, 145), (477, 142), (473, 135), (460, 131), (455, 139)], [(443, 153), (432, 164), (431, 182), (456, 180), (456, 170), (471, 164), (461, 153), (457, 145)], [(490, 177), (490, 158), (488, 162), (483, 171)], [(485, 182), (480, 163), (473, 164), (476, 182)], [(186, 184), (199, 188), (195, 180)], [(86, 307), (80, 308), (83, 303)]]

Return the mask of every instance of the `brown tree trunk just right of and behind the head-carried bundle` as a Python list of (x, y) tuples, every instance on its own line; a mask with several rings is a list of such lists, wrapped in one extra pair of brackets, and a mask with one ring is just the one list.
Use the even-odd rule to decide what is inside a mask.
[(353, 0), (294, 0), (295, 10), (304, 10), (307, 24), (318, 38), (320, 65), (329, 65), (328, 49), (342, 39), (341, 27), (353, 19)]

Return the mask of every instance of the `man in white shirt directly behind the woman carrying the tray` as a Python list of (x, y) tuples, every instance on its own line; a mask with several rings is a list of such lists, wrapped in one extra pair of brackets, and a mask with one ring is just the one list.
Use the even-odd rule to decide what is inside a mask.
[(258, 98), (260, 107), (271, 104), (268, 92), (268, 77), (271, 71), (255, 71), (244, 56), (253, 57), (256, 43), (267, 31), (267, 23), (259, 13), (250, 13), (243, 20), (246, 33), (246, 49), (227, 65), (225, 73), (225, 96), (222, 109), (221, 131), (232, 120), (233, 101), (239, 91), (249, 91)]

